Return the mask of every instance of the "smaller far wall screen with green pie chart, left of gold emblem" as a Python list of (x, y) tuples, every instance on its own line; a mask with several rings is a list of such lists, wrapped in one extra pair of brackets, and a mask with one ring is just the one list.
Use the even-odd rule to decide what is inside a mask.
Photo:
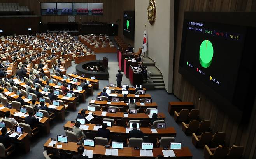
[(124, 11), (123, 17), (123, 35), (134, 39), (134, 11)]

